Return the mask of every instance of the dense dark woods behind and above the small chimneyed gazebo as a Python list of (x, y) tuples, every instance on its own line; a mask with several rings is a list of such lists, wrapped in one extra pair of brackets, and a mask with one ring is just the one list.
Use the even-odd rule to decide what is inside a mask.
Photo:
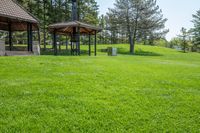
[[(71, 0), (17, 0), (26, 10), (32, 13), (40, 21), (41, 41), (46, 44), (51, 42), (51, 35), (48, 34), (49, 24), (71, 21), (72, 2)], [(98, 25), (99, 6), (95, 0), (78, 0), (78, 19), (82, 22)], [(64, 41), (65, 37), (59, 37)]]

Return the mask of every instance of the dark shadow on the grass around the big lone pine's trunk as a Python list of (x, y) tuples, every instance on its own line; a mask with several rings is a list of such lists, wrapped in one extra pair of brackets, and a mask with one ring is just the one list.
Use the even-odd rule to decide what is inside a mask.
[[(107, 52), (107, 49), (100, 49), (99, 52)], [(136, 55), (136, 56), (163, 56), (162, 54), (158, 54), (155, 52), (149, 52), (149, 51), (144, 51), (142, 49), (137, 49), (135, 50), (135, 54), (131, 54), (127, 49), (125, 48), (117, 48), (118, 54), (123, 54), (123, 55)]]

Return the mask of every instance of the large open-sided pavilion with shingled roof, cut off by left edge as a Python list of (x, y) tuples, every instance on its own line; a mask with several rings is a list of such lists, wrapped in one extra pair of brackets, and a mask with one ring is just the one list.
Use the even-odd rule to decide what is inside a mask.
[[(40, 54), (39, 21), (15, 0), (0, 0), (0, 30), (8, 31), (9, 38), (9, 51), (6, 51), (5, 41), (0, 41), (0, 55), (7, 55), (13, 50), (14, 31), (27, 31), (27, 51)], [(38, 31), (38, 41), (33, 42), (33, 31)]]

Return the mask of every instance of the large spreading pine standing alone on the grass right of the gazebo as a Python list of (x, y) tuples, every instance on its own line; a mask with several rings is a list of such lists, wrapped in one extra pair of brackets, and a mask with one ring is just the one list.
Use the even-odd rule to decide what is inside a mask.
[(154, 40), (164, 38), (168, 32), (164, 29), (167, 19), (163, 18), (156, 0), (116, 0), (107, 16), (113, 38), (124, 33), (128, 35), (130, 53), (134, 52), (136, 41), (148, 40), (153, 44)]

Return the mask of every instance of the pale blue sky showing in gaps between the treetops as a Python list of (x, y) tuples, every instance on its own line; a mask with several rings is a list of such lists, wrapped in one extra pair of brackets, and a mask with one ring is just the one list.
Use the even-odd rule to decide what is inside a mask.
[[(100, 14), (106, 14), (113, 7), (115, 0), (96, 0), (100, 6)], [(166, 28), (170, 30), (166, 38), (170, 40), (180, 33), (181, 27), (191, 28), (192, 14), (200, 9), (200, 0), (157, 0), (164, 17), (168, 19)]]

